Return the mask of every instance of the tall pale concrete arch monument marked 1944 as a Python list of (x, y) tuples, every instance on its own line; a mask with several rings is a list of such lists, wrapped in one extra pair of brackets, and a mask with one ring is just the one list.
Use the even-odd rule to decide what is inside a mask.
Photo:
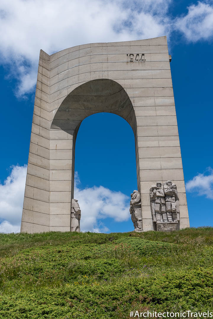
[(40, 51), (21, 232), (70, 231), (75, 140), (98, 112), (133, 129), (143, 231), (156, 181), (177, 185), (180, 228), (189, 226), (170, 60), (166, 37)]

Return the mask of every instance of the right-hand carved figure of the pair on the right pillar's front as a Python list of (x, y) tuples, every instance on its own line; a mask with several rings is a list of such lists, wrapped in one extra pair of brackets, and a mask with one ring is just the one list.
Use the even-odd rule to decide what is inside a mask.
[(178, 223), (177, 213), (179, 215), (179, 197), (177, 186), (172, 184), (171, 181), (164, 183), (164, 193), (166, 200), (166, 214), (169, 222), (174, 221)]

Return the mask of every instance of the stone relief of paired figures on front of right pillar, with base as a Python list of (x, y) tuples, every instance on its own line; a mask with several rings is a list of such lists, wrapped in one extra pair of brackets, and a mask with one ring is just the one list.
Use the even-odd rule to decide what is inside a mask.
[[(177, 186), (171, 181), (157, 182), (149, 190), (152, 220), (156, 223), (156, 230), (178, 229), (180, 220), (179, 197)], [(172, 225), (172, 224), (176, 224)]]

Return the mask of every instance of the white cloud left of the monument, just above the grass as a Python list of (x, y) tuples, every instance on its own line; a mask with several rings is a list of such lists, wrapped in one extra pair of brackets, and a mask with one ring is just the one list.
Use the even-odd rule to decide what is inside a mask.
[(13, 166), (0, 184), (0, 232), (19, 232), (27, 174), (27, 165)]

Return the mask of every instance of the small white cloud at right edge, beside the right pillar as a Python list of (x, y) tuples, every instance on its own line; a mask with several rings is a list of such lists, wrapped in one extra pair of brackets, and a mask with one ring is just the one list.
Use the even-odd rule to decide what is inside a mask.
[(213, 199), (213, 169), (209, 167), (207, 171), (209, 174), (199, 173), (187, 182), (186, 190)]

